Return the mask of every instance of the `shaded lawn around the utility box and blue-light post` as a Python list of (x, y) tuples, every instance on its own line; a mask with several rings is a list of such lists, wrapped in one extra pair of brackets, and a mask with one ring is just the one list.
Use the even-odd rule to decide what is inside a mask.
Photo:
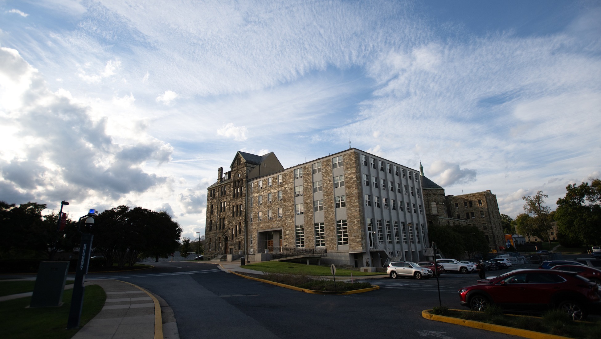
[[(2, 338), (11, 339), (69, 339), (78, 329), (67, 330), (71, 294), (66, 290), (61, 307), (26, 308), (31, 297), (0, 302), (0, 328)], [(84, 308), (80, 326), (84, 326), (102, 310), (106, 294), (102, 287), (91, 285), (85, 287)]]

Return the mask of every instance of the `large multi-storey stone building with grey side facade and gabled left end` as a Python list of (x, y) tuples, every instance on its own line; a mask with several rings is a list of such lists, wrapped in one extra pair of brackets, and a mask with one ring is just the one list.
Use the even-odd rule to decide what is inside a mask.
[(424, 256), (422, 188), (407, 166), (350, 148), (286, 169), (273, 153), (238, 152), (230, 168), (208, 188), (208, 255), (310, 248), (355, 267)]

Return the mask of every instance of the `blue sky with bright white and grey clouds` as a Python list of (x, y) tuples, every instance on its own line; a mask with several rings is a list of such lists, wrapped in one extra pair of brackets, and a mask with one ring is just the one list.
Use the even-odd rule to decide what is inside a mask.
[(501, 213), (601, 174), (599, 1), (0, 0), (0, 200), (204, 234), (236, 151), (352, 147)]

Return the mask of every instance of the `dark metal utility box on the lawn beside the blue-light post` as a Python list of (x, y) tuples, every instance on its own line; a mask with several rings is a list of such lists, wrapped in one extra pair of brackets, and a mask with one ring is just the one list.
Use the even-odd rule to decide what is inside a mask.
[(42, 261), (35, 278), (34, 293), (29, 307), (63, 305), (69, 261)]

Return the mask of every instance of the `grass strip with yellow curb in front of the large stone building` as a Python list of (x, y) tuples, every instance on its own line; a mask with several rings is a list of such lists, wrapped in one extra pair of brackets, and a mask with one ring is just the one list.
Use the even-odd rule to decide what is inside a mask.
[[(240, 266), (261, 272), (281, 273), (281, 274), (298, 274), (298, 275), (323, 275), (332, 276), (330, 266), (305, 265), (297, 263), (285, 263), (283, 261), (262, 261), (260, 263), (248, 264)], [(382, 275), (386, 273), (366, 273), (350, 269), (336, 269), (336, 276), (367, 276), (367, 275)]]

